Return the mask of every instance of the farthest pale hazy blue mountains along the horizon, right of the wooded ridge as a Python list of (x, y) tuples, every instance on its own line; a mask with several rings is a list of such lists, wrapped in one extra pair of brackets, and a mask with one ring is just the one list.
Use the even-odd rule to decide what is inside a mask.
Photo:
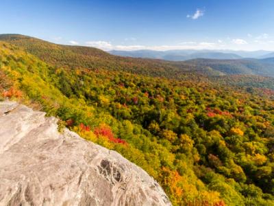
[(135, 58), (156, 58), (162, 60), (183, 61), (195, 58), (210, 58), (210, 59), (240, 59), (240, 58), (272, 58), (274, 52), (258, 50), (253, 52), (234, 51), (234, 50), (168, 50), (168, 51), (153, 51), (153, 50), (136, 50), (136, 51), (120, 51), (112, 50), (110, 54), (118, 56), (127, 56)]

